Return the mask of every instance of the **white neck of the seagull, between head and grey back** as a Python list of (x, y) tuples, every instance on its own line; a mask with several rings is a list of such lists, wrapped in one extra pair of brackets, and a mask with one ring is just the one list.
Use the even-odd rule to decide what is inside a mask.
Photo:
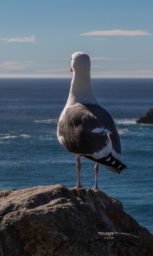
[(66, 108), (69, 108), (76, 103), (99, 105), (92, 90), (90, 72), (89, 74), (87, 74), (87, 72), (77, 74), (75, 70), (73, 71), (73, 79), (71, 81)]

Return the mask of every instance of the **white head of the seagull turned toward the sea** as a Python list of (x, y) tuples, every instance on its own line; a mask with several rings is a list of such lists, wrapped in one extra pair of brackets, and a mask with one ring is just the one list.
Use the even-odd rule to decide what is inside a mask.
[(91, 61), (87, 54), (84, 52), (75, 52), (71, 56), (71, 72), (76, 75), (87, 76), (91, 71)]

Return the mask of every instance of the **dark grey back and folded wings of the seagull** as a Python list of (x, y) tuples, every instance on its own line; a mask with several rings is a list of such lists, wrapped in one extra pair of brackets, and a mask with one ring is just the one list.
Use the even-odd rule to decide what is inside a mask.
[[(101, 131), (104, 127), (108, 132)], [(101, 106), (93, 104), (78, 104), (66, 109), (65, 115), (59, 122), (59, 137), (62, 145), (69, 152), (80, 155), (91, 155), (100, 152), (112, 141), (112, 147), (121, 153), (120, 139), (112, 116)]]

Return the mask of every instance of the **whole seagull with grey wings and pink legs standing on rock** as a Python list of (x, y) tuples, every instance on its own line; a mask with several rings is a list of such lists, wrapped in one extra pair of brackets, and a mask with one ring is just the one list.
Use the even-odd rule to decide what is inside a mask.
[(96, 162), (95, 185), (98, 189), (99, 164), (113, 173), (126, 170), (121, 163), (120, 138), (112, 116), (101, 107), (91, 85), (91, 61), (84, 52), (71, 56), (73, 79), (68, 101), (59, 118), (57, 138), (59, 143), (77, 157), (78, 184), (80, 182), (80, 157)]

